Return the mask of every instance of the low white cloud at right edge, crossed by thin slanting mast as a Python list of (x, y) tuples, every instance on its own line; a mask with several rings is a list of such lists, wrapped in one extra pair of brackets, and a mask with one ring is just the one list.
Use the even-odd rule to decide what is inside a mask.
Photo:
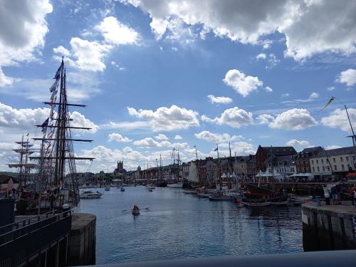
[[(356, 109), (348, 108), (347, 109), (352, 125), (356, 124)], [(340, 110), (337, 108), (333, 112), (330, 112), (330, 115), (322, 117), (321, 123), (325, 126), (332, 128), (339, 128), (345, 132), (350, 132), (350, 123), (347, 120), (347, 114), (345, 110)]]

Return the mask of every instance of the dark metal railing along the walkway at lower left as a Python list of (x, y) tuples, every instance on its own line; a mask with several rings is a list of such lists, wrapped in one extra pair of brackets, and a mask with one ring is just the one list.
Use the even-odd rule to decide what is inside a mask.
[[(0, 235), (1, 267), (17, 266), (69, 233), (72, 219), (70, 210), (53, 216), (50, 214), (41, 216), (31, 217), (29, 222), (28, 219), (23, 220), (26, 223), (19, 221), (11, 224), (14, 227), (19, 223), (21, 227)], [(33, 221), (34, 218), (39, 221)]]

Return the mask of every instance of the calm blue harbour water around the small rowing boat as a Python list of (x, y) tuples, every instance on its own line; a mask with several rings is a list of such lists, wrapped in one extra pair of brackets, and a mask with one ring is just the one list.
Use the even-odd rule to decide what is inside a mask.
[[(80, 211), (97, 216), (97, 263), (303, 251), (300, 207), (238, 208), (181, 189), (125, 189), (81, 199)], [(122, 211), (134, 204), (150, 210)]]

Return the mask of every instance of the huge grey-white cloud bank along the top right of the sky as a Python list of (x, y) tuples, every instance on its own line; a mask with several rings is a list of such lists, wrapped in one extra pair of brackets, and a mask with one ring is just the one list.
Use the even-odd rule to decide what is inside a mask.
[[(152, 18), (150, 26), (157, 38), (169, 30), (172, 18), (184, 22), (191, 31), (200, 26), (205, 33), (241, 43), (261, 44), (265, 36), (278, 31), (286, 36), (285, 56), (296, 61), (326, 51), (354, 53), (356, 4), (345, 1), (186, 1), (120, 0), (140, 7)], [(340, 19), (344, 18), (344, 19)], [(328, 27), (333, 25), (333, 27)], [(172, 30), (171, 30), (172, 31)], [(315, 34), (318, 33), (318, 34)], [(345, 34), (347, 33), (347, 34)], [(175, 33), (179, 35), (179, 31)]]

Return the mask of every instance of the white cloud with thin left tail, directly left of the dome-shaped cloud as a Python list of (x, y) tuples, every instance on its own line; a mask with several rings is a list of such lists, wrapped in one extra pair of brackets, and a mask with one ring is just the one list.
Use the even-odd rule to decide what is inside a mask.
[(252, 113), (238, 107), (229, 108), (225, 110), (220, 117), (215, 117), (214, 119), (202, 115), (201, 120), (216, 123), (217, 125), (226, 124), (234, 128), (253, 124)]

